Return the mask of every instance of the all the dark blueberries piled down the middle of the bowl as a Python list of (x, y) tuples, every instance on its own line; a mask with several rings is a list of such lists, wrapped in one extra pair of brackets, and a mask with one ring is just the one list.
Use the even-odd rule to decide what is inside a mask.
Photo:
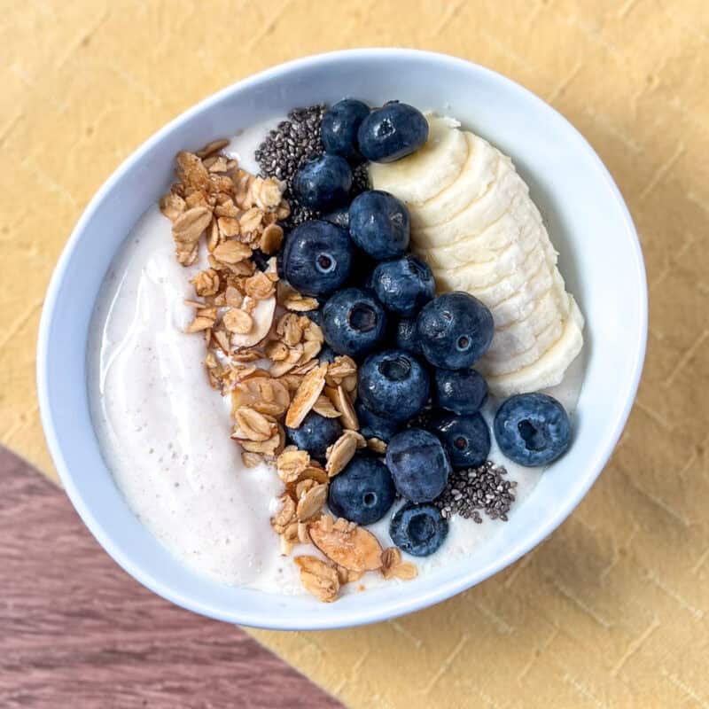
[[(279, 272), (321, 304), (310, 314), (327, 344), (321, 359), (347, 354), (358, 362), (362, 434), (387, 443), (384, 462), (371, 453), (354, 456), (332, 480), (328, 504), (367, 525), (400, 495), (406, 503), (391, 520), (392, 540), (427, 556), (448, 532), (432, 502), (453, 471), (485, 463), (490, 451), (479, 413), (487, 384), (471, 367), (490, 346), (493, 317), (469, 293), (435, 295), (431, 269), (408, 251), (409, 211), (399, 199), (373, 190), (349, 199), (353, 166), (416, 151), (428, 137), (425, 117), (398, 102), (370, 110), (346, 99), (325, 113), (321, 137), (325, 154), (302, 165), (293, 186), (301, 204), (326, 216), (292, 230)], [(568, 445), (564, 409), (547, 400), (554, 401), (538, 398), (533, 407), (522, 395), (498, 412), (495, 435), (512, 459), (543, 464)], [(339, 424), (311, 413), (289, 435), (322, 458)]]

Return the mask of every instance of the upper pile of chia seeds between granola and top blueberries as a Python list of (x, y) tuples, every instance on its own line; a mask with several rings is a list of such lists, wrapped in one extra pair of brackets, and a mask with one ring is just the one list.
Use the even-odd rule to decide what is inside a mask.
[[(286, 121), (278, 123), (269, 131), (264, 141), (254, 153), (261, 168), (261, 177), (275, 177), (285, 183), (284, 198), (291, 205), (291, 215), (284, 222), (286, 229), (292, 229), (308, 219), (316, 219), (320, 213), (307, 206), (301, 206), (292, 193), (295, 173), (306, 160), (323, 154), (323, 141), (320, 139), (320, 125), (327, 106), (311, 105), (308, 108), (294, 108), (288, 113)], [(370, 189), (367, 164), (353, 169), (354, 181), (352, 196)]]

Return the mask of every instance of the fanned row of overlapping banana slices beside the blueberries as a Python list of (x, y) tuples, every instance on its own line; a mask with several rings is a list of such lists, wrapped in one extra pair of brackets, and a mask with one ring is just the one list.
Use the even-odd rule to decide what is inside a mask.
[(495, 336), (479, 362), (491, 391), (557, 384), (583, 344), (583, 316), (529, 189), (487, 141), (450, 121), (429, 122), (425, 151), (372, 166), (372, 184), (409, 204), (412, 249), (439, 291), (471, 292), (492, 311)]

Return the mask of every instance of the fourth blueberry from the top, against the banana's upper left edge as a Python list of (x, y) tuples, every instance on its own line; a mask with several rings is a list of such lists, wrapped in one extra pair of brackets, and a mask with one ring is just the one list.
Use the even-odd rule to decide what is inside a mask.
[(388, 192), (362, 192), (349, 206), (350, 236), (378, 261), (402, 256), (409, 247), (410, 230), (409, 210)]

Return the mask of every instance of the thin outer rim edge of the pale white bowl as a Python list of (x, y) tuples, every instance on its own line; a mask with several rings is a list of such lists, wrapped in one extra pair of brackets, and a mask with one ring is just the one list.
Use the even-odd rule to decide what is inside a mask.
[[(156, 580), (147, 570), (133, 564), (129, 557), (126, 557), (119, 549), (115, 548), (110, 534), (105, 531), (102, 522), (91, 511), (90, 504), (86, 502), (84, 495), (82, 495), (80, 489), (74, 484), (73, 473), (69, 470), (69, 467), (66, 464), (62, 446), (58, 440), (57, 432), (52, 420), (47, 368), (51, 344), (51, 323), (58, 306), (60, 285), (64, 280), (67, 264), (71, 260), (74, 251), (77, 249), (82, 233), (87, 223), (90, 222), (93, 214), (97, 212), (97, 209), (101, 206), (105, 198), (111, 193), (111, 191), (113, 191), (113, 187), (116, 183), (121, 181), (123, 175), (136, 163), (143, 160), (145, 153), (149, 152), (153, 145), (159, 144), (160, 141), (168, 136), (176, 127), (186, 121), (190, 121), (192, 117), (198, 115), (199, 113), (209, 111), (213, 105), (222, 102), (222, 100), (229, 97), (232, 92), (244, 90), (253, 84), (258, 84), (260, 82), (276, 78), (279, 74), (290, 73), (303, 68), (308, 68), (323, 62), (323, 60), (337, 61), (340, 58), (377, 57), (383, 59), (393, 57), (424, 58), (440, 64), (443, 68), (445, 68), (445, 66), (457, 66), (458, 68), (466, 68), (468, 70), (472, 69), (480, 74), (486, 75), (488, 79), (504, 84), (507, 90), (516, 92), (521, 98), (527, 102), (532, 102), (541, 110), (555, 113), (557, 118), (565, 123), (566, 128), (570, 130), (571, 134), (579, 142), (580, 150), (585, 152), (587, 157), (596, 164), (596, 168), (604, 179), (604, 182), (607, 183), (607, 186), (610, 188), (612, 199), (615, 200), (617, 206), (619, 207), (619, 214), (622, 216), (624, 227), (627, 230), (627, 235), (632, 243), (634, 261), (632, 263), (632, 267), (636, 270), (636, 277), (642, 290), (642, 292), (638, 293), (640, 324), (640, 328), (638, 329), (638, 337), (634, 342), (628, 343), (628, 348), (632, 345), (632, 351), (634, 353), (634, 359), (632, 361), (633, 375), (628, 378), (627, 386), (625, 387), (625, 391), (622, 393), (624, 405), (622, 409), (619, 409), (616, 420), (613, 422), (612, 435), (604, 441), (603, 446), (599, 446), (596, 451), (595, 458), (586, 466), (587, 472), (584, 484), (577, 488), (575, 495), (567, 498), (563, 505), (555, 510), (553, 514), (550, 514), (549, 518), (545, 519), (545, 521), (537, 528), (536, 534), (530, 536), (526, 543), (512, 545), (510, 550), (506, 554), (497, 557), (494, 563), (488, 564), (479, 570), (473, 570), (469, 573), (461, 574), (459, 577), (456, 577), (456, 579), (449, 580), (433, 590), (423, 589), (417, 594), (410, 595), (409, 597), (402, 594), (401, 601), (393, 609), (386, 608), (382, 610), (377, 606), (370, 607), (367, 605), (362, 605), (361, 608), (355, 609), (354, 611), (350, 610), (350, 612), (343, 613), (341, 615), (328, 615), (326, 617), (321, 616), (321, 619), (316, 619), (315, 622), (309, 622), (308, 624), (299, 623), (297, 620), (279, 620), (277, 617), (269, 616), (266, 612), (262, 612), (261, 614), (239, 612), (238, 606), (235, 606), (233, 612), (230, 612), (227, 616), (218, 609), (211, 608), (192, 597), (183, 595), (177, 588), (166, 586)], [(109, 556), (111, 556), (118, 565), (120, 565), (126, 572), (128, 572), (146, 588), (150, 588), (159, 596), (162, 596), (163, 598), (166, 598), (172, 603), (180, 605), (185, 609), (191, 610), (192, 612), (198, 612), (210, 618), (244, 624), (251, 627), (261, 627), (275, 630), (315, 630), (338, 627), (354, 627), (379, 622), (386, 619), (393, 619), (409, 612), (422, 610), (430, 605), (438, 604), (451, 596), (455, 596), (467, 588), (477, 585), (482, 580), (486, 580), (490, 576), (493, 576), (495, 573), (502, 571), (505, 567), (517, 561), (519, 557), (522, 557), (531, 549), (534, 549), (541, 541), (549, 536), (549, 534), (551, 534), (557, 526), (565, 520), (565, 518), (571, 514), (571, 512), (578, 506), (581, 499), (583, 499), (583, 497), (588, 493), (588, 489), (596, 481), (601, 471), (603, 471), (604, 465), (612, 455), (612, 451), (618, 443), (620, 435), (626, 425), (627, 417), (633, 407), (635, 393), (637, 392), (643, 372), (643, 362), (647, 346), (647, 331), (647, 278), (643, 261), (643, 252), (640, 245), (640, 240), (635, 230), (635, 224), (627, 208), (625, 200), (622, 198), (619, 188), (613, 180), (608, 168), (605, 167), (603, 161), (599, 158), (591, 145), (588, 144), (586, 138), (584, 138), (580, 132), (573, 127), (573, 124), (568, 121), (565, 116), (557, 112), (555, 108), (547, 104), (532, 91), (527, 90), (517, 82), (503, 76), (503, 74), (499, 74), (492, 69), (485, 66), (480, 66), (474, 62), (468, 61), (467, 59), (456, 58), (440, 52), (404, 48), (366, 48), (330, 51), (294, 59), (277, 66), (269, 67), (257, 74), (252, 74), (245, 79), (234, 82), (230, 84), (230, 86), (202, 99), (198, 104), (193, 105), (191, 108), (175, 117), (175, 119), (169, 121), (167, 125), (145, 140), (143, 144), (136, 148), (136, 150), (132, 152), (128, 158), (123, 160), (121, 165), (113, 171), (113, 174), (108, 177), (105, 183), (102, 184), (93, 198), (90, 199), (89, 204), (85, 207), (82, 216), (76, 223), (74, 230), (72, 230), (70, 237), (66, 241), (66, 245), (64, 246), (57, 265), (52, 273), (51, 281), (45, 295), (37, 338), (36, 384), (44, 436), (50, 450), (52, 461), (57, 468), (59, 479), (61, 480), (71, 503), (74, 505), (74, 509), (82, 518), (83, 523), (89, 528), (90, 533), (93, 534)]]

